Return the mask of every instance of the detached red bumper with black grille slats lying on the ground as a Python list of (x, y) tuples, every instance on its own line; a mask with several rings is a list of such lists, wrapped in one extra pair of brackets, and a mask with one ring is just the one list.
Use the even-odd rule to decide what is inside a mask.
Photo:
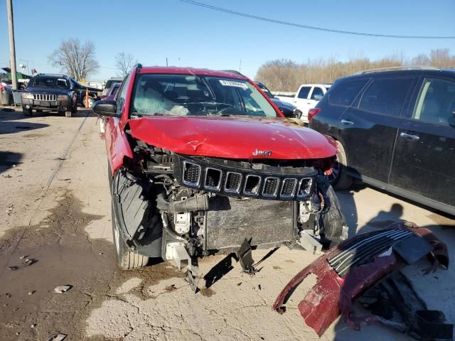
[[(411, 222), (398, 222), (387, 229), (359, 234), (334, 247), (296, 274), (279, 293), (273, 309), (284, 313), (284, 303), (296, 286), (306, 276), (314, 274), (317, 282), (299, 303), (299, 311), (306, 325), (320, 337), (340, 314), (355, 330), (359, 330), (362, 324), (382, 323), (384, 318), (378, 315), (355, 317), (353, 299), (385, 276), (423, 256), (432, 262), (432, 266), (424, 269), (424, 274), (435, 271), (438, 264), (445, 268), (449, 266), (446, 245), (429, 229), (417, 227)], [(407, 328), (408, 331), (410, 329)], [(411, 336), (415, 337), (415, 333)], [(420, 340), (425, 339), (422, 337)]]

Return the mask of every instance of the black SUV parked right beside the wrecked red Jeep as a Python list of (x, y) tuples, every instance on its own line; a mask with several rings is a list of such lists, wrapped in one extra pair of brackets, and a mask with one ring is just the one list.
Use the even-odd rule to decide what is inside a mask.
[(338, 144), (352, 177), (455, 215), (455, 70), (373, 70), (337, 80), (310, 127)]

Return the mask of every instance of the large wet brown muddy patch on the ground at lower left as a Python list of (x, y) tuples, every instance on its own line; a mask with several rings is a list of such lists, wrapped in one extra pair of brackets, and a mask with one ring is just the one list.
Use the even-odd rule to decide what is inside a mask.
[[(0, 239), (0, 257), (8, 259), (0, 270), (0, 339), (18, 340), (19, 333), (21, 340), (47, 340), (63, 332), (67, 340), (86, 340), (87, 316), (106, 299), (122, 299), (115, 288), (129, 278), (143, 279), (131, 293), (149, 299), (145, 286), (180, 275), (164, 263), (116, 269), (113, 245), (90, 239), (84, 230), (101, 217), (82, 212), (82, 202), (66, 191), (39, 224), (9, 230)], [(26, 266), (26, 259), (33, 264)], [(54, 293), (65, 284), (73, 288)]]

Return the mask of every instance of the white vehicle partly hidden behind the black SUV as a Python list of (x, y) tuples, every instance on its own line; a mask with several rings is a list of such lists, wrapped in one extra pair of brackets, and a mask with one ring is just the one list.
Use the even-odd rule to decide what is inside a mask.
[(299, 87), (294, 97), (279, 96), (278, 98), (283, 102), (292, 103), (299, 108), (302, 113), (300, 119), (308, 123), (309, 109), (316, 107), (316, 104), (318, 104), (330, 87), (331, 84), (304, 84)]

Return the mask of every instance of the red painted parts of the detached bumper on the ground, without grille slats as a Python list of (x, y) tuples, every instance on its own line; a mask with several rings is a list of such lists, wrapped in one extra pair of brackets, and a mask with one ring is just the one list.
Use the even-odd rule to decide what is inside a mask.
[[(431, 244), (433, 249), (432, 254), (429, 254), (430, 259), (435, 261), (435, 264), (439, 262), (445, 267), (449, 266), (446, 245), (437, 239), (429, 229), (417, 227), (417, 225), (412, 223), (404, 224), (402, 222), (392, 224), (390, 228), (407, 229), (423, 237)], [(340, 254), (343, 249), (346, 249), (348, 243), (367, 239), (375, 233), (358, 234), (331, 249), (309, 266), (306, 266), (279, 293), (273, 309), (279, 313), (284, 313), (284, 301), (287, 300), (299, 283), (304, 281), (309, 274), (314, 274), (317, 277), (316, 284), (306, 294), (304, 300), (299, 303), (299, 311), (306, 325), (313, 328), (319, 337), (338, 318), (340, 313), (343, 314), (346, 323), (354, 329), (359, 329), (361, 323), (375, 323), (377, 318), (375, 315), (369, 315), (363, 318), (354, 318), (351, 316), (353, 298), (363, 293), (367, 288), (375, 285), (375, 283), (378, 283), (387, 274), (401, 269), (406, 265), (405, 261), (399, 259), (393, 252), (390, 255), (376, 256), (373, 263), (355, 266), (343, 277), (338, 276), (336, 271), (328, 263), (328, 259)]]

